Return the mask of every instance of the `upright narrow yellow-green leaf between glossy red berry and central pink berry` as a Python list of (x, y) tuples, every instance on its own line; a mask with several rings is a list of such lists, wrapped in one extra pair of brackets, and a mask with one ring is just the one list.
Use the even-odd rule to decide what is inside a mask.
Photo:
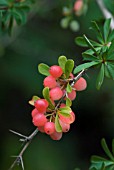
[(48, 101), (48, 103), (49, 103), (49, 108), (50, 108), (50, 109), (54, 109), (55, 106), (53, 105), (53, 103), (52, 103), (52, 101), (51, 101), (51, 99), (50, 99), (49, 88), (48, 88), (48, 87), (45, 87), (45, 88), (43, 89), (43, 96), (44, 96), (44, 98)]

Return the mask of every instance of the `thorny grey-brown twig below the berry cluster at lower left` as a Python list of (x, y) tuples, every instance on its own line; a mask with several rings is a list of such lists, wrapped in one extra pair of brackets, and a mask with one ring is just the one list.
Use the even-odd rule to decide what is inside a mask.
[(27, 147), (29, 146), (29, 144), (31, 143), (32, 139), (33, 139), (33, 138), (36, 136), (36, 134), (38, 133), (38, 128), (36, 128), (36, 129), (34, 130), (34, 132), (33, 132), (30, 136), (28, 136), (28, 137), (27, 137), (27, 136), (24, 136), (24, 135), (22, 135), (22, 134), (20, 134), (20, 133), (17, 133), (17, 132), (15, 132), (15, 131), (12, 131), (12, 130), (10, 130), (10, 132), (12, 132), (12, 133), (14, 133), (14, 134), (16, 134), (16, 135), (18, 135), (18, 136), (23, 137), (24, 139), (22, 139), (21, 141), (24, 141), (24, 142), (26, 142), (26, 143), (25, 143), (24, 147), (22, 148), (22, 150), (20, 151), (19, 155), (18, 155), (18, 156), (15, 156), (16, 159), (14, 160), (14, 162), (13, 162), (13, 164), (11, 165), (11, 167), (9, 168), (9, 170), (11, 170), (16, 164), (21, 164), (21, 165), (22, 165), (22, 169), (24, 170), (24, 164), (23, 164), (22, 156), (23, 156), (25, 150), (27, 149)]

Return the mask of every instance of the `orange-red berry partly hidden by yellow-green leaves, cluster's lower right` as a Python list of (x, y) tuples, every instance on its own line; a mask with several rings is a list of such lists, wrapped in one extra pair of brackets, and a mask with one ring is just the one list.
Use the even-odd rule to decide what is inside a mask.
[(75, 114), (72, 111), (70, 112), (69, 117), (65, 117), (65, 116), (59, 114), (59, 119), (64, 123), (71, 124), (75, 121)]

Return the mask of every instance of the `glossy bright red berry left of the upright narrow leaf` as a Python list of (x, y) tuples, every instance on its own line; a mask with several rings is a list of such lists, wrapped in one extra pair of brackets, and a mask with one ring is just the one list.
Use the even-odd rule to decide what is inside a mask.
[(36, 109), (38, 109), (38, 111), (41, 113), (46, 112), (48, 105), (49, 104), (48, 104), (47, 100), (45, 100), (45, 99), (36, 100), (34, 103), (34, 106), (36, 107)]

